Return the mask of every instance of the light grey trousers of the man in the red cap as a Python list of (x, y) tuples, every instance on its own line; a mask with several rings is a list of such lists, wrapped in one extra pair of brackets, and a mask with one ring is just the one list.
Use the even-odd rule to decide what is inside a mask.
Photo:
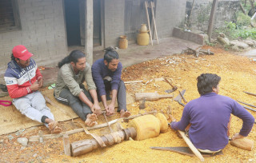
[[(50, 108), (46, 106), (46, 100), (39, 91), (29, 93), (23, 97), (14, 98), (13, 104), (16, 109), (32, 120), (42, 123), (42, 116), (54, 120), (54, 115), (50, 112)], [(48, 124), (45, 125), (48, 127)]]

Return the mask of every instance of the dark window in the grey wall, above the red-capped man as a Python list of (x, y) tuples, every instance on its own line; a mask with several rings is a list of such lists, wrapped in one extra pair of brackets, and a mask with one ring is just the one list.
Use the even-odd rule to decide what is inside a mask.
[(0, 33), (20, 29), (17, 0), (0, 0)]

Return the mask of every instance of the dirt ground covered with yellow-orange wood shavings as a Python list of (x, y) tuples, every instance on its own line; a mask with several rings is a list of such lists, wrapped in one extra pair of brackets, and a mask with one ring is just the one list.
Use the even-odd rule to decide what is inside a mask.
[[(256, 105), (256, 97), (247, 95), (243, 91), (256, 93), (256, 62), (253, 59), (230, 54), (225, 50), (204, 46), (210, 49), (214, 55), (194, 55), (177, 54), (156, 58), (147, 62), (142, 62), (134, 66), (126, 67), (122, 71), (123, 81), (143, 82), (126, 84), (127, 93), (134, 97), (137, 92), (158, 92), (166, 94), (166, 89), (171, 89), (166, 81), (159, 78), (169, 78), (178, 90), (186, 89), (186, 101), (199, 97), (196, 78), (202, 73), (218, 74), (222, 77), (219, 94), (229, 96), (235, 100), (244, 101), (251, 105)], [(174, 97), (178, 91), (174, 92)], [(138, 101), (132, 101), (127, 108), (132, 115), (138, 114)], [(182, 117), (182, 105), (174, 101), (173, 98), (161, 99), (158, 101), (146, 101), (146, 109), (150, 111), (156, 109), (158, 112), (166, 114), (167, 108), (172, 109), (176, 119)], [(254, 117), (256, 113), (250, 111)], [(119, 117), (116, 113), (113, 117), (108, 117), (108, 121)], [(78, 118), (74, 121), (82, 123)], [(105, 123), (104, 117), (98, 117), (98, 123)], [(61, 122), (64, 131), (78, 129), (72, 121)], [(127, 127), (126, 122), (122, 122), (123, 127)], [(117, 125), (111, 125), (117, 130)], [(230, 135), (238, 133), (242, 127), (242, 120), (232, 116)], [(44, 140), (43, 143), (29, 142), (23, 147), (17, 142), (18, 137), (30, 137), (37, 135), (42, 130), (47, 134), (45, 126), (32, 127), (25, 131), (10, 133), (0, 136), (0, 162), (199, 162), (197, 157), (184, 156), (179, 153), (150, 149), (150, 146), (171, 147), (187, 146), (182, 138), (179, 138), (172, 129), (166, 133), (161, 133), (158, 137), (146, 139), (144, 141), (123, 141), (122, 143), (111, 145), (102, 149), (95, 149), (91, 153), (86, 153), (79, 157), (69, 157), (64, 154), (62, 137)], [(98, 135), (110, 133), (108, 128), (90, 131)], [(10, 139), (10, 136), (13, 137)], [(86, 133), (75, 133), (70, 135), (70, 142), (90, 139)], [(248, 138), (256, 140), (255, 125)], [(210, 141), (210, 140), (209, 140)], [(206, 162), (256, 162), (256, 150), (247, 151), (238, 149), (232, 145), (226, 145), (222, 150), (223, 155), (206, 157)]]

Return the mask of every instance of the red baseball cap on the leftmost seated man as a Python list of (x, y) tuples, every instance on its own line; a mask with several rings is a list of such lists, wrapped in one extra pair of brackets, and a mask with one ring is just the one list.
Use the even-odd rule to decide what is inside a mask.
[(33, 56), (33, 54), (30, 54), (26, 47), (22, 45), (14, 46), (13, 54), (14, 58), (19, 58), (23, 61), (26, 61), (28, 58)]

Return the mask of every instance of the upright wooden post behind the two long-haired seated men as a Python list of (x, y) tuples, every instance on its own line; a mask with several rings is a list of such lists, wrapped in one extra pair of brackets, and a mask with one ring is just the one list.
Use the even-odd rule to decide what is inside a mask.
[(85, 42), (85, 52), (86, 52), (86, 62), (90, 65), (93, 64), (93, 44), (94, 44), (94, 1), (86, 1), (86, 42)]

